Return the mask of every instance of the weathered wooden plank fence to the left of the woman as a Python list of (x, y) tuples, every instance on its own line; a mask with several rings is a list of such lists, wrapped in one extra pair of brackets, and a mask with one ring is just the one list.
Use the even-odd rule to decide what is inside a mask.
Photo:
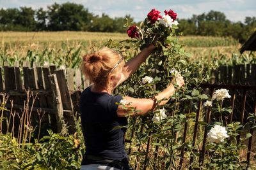
[[(37, 66), (36, 63), (29, 67), (28, 62), (24, 62), (22, 69), (19, 63), (14, 65), (0, 67), (0, 101), (2, 108), (8, 110), (2, 111), (1, 117), (6, 119), (0, 122), (0, 131), (18, 134), (20, 119), (27, 110), (31, 127), (38, 127), (40, 120), (41, 135), (47, 134), (46, 129), (76, 132), (73, 115), (79, 111), (81, 89), (88, 86), (80, 70), (68, 68), (66, 71), (54, 65)], [(10, 125), (14, 127), (9, 128)]]

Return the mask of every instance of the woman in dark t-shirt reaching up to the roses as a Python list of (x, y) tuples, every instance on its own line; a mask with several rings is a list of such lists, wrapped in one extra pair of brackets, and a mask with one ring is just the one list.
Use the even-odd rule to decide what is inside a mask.
[[(154, 45), (148, 46), (127, 63), (124, 63), (120, 53), (106, 47), (83, 57), (81, 69), (92, 85), (83, 91), (80, 101), (81, 124), (86, 145), (81, 169), (130, 169), (124, 145), (126, 130), (114, 127), (127, 125), (125, 115), (129, 107), (140, 110), (134, 115), (143, 115), (154, 110), (157, 104), (167, 103), (175, 88), (171, 83), (152, 99), (113, 96), (111, 93), (138, 69), (154, 48)], [(176, 83), (179, 87), (184, 85), (183, 77), (177, 77)], [(116, 104), (122, 99), (129, 103), (128, 110)]]

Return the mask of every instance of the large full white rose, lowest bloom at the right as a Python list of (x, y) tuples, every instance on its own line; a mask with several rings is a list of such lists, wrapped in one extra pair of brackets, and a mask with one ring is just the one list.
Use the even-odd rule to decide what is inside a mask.
[(221, 125), (214, 125), (214, 127), (208, 132), (207, 138), (211, 143), (223, 142), (225, 138), (228, 138), (225, 127)]

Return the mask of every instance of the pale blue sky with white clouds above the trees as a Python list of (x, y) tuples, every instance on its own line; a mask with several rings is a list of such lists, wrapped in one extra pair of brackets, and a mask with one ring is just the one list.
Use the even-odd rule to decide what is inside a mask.
[(95, 15), (106, 13), (114, 18), (130, 14), (136, 22), (144, 20), (153, 8), (162, 14), (164, 10), (173, 10), (178, 13), (178, 18), (191, 18), (193, 14), (200, 15), (210, 10), (225, 13), (232, 22), (244, 22), (245, 17), (256, 17), (256, 0), (0, 0), (0, 8), (31, 6), (34, 9), (47, 9), (53, 3), (66, 2), (83, 4)]

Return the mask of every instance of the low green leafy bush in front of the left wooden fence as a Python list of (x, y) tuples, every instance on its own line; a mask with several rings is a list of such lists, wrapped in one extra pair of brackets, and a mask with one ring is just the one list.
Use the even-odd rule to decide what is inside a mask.
[(49, 131), (38, 143), (19, 144), (12, 134), (0, 135), (0, 169), (79, 169), (81, 139)]

